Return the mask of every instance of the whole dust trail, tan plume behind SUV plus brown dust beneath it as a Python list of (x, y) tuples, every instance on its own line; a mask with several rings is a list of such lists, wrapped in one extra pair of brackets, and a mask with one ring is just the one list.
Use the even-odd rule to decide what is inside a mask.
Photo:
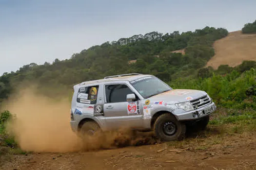
[(5, 103), (6, 109), (16, 115), (7, 130), (22, 150), (32, 152), (91, 151), (156, 143), (152, 133), (127, 129), (81, 139), (71, 130), (70, 106), (68, 99), (56, 101), (33, 88), (20, 90)]

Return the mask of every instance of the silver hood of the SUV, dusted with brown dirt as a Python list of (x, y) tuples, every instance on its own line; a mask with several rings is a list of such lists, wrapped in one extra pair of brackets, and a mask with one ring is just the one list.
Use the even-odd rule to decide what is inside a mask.
[(177, 101), (177, 102), (187, 102), (199, 97), (207, 95), (206, 92), (200, 90), (189, 90), (189, 89), (174, 89), (167, 92), (160, 93), (156, 96), (148, 98), (154, 101)]

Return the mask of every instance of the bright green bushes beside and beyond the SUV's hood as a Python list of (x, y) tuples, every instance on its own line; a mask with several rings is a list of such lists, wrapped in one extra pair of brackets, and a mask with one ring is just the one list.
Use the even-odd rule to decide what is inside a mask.
[[(205, 69), (201, 71), (203, 72), (203, 70)], [(254, 89), (254, 86), (256, 86), (256, 70), (253, 68), (242, 74), (234, 70), (226, 76), (214, 73), (213, 76), (208, 78), (178, 78), (170, 82), (169, 85), (173, 88), (204, 90), (218, 106), (256, 109), (256, 102), (252, 101), (255, 100), (252, 95), (256, 91)], [(249, 94), (252, 95), (248, 96)]]

